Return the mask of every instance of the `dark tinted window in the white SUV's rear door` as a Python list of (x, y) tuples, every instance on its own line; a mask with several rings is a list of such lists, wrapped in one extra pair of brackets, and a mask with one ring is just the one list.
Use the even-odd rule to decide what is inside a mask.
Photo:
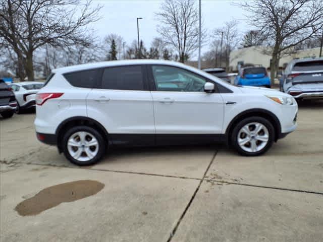
[(142, 66), (105, 68), (101, 88), (113, 90), (145, 90)]

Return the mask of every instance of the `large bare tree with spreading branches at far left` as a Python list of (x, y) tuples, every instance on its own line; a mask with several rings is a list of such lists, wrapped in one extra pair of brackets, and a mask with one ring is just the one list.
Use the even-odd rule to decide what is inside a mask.
[[(100, 7), (80, 0), (0, 1), (0, 42), (12, 48), (18, 68), (34, 79), (33, 54), (45, 44), (59, 47), (92, 42), (86, 26), (98, 20)], [(22, 70), (20, 70), (22, 71)]]

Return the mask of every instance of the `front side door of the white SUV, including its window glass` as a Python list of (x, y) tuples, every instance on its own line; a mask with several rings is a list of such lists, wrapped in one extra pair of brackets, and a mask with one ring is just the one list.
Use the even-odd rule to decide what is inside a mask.
[(205, 93), (207, 79), (164, 65), (149, 66), (157, 144), (195, 143), (222, 132), (224, 102), (220, 93)]

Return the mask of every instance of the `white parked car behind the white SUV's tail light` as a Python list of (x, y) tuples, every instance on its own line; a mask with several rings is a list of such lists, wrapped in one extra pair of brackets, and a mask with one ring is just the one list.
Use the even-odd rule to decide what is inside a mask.
[(43, 82), (17, 82), (9, 85), (16, 96), (17, 113), (36, 106), (36, 93), (43, 85)]

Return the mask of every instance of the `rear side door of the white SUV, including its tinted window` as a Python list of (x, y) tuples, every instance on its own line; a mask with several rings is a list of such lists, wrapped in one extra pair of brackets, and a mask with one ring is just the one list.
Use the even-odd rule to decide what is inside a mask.
[(102, 70), (102, 78), (87, 96), (87, 113), (104, 126), (114, 144), (154, 145), (152, 97), (145, 66)]

